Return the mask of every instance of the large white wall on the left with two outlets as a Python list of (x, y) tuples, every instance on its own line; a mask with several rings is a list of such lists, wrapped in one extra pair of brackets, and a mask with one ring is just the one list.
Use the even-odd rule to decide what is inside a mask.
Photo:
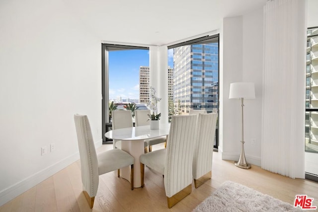
[(0, 206), (79, 158), (75, 113), (101, 144), (100, 40), (63, 4), (0, 2)]

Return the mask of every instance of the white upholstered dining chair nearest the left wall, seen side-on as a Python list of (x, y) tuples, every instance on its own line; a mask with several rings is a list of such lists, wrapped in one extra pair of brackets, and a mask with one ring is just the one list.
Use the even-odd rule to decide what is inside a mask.
[(133, 156), (120, 149), (111, 149), (96, 154), (89, 121), (86, 115), (74, 115), (76, 133), (79, 144), (81, 182), (84, 196), (92, 209), (97, 194), (99, 175), (131, 166), (130, 186), (134, 189)]

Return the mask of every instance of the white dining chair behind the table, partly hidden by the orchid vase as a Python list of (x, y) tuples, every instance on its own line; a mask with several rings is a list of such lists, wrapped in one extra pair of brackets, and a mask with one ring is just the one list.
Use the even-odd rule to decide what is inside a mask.
[[(135, 110), (135, 126), (145, 126), (150, 125), (150, 122), (148, 121), (149, 117), (148, 114), (150, 114), (150, 110)], [(166, 141), (166, 137), (159, 137), (156, 139), (148, 139), (145, 140), (149, 146), (149, 151), (152, 151), (152, 146), (158, 143), (163, 143)], [(147, 147), (146, 147), (147, 148)], [(147, 152), (145, 150), (145, 152)]]

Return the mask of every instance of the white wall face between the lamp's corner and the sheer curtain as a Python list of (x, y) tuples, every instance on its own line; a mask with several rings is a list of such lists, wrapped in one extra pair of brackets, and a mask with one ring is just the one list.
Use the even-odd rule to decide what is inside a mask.
[[(263, 8), (243, 16), (243, 81), (255, 83), (255, 99), (246, 99), (244, 149), (250, 163), (260, 165), (262, 83), (263, 83)], [(251, 141), (255, 140), (255, 144)]]

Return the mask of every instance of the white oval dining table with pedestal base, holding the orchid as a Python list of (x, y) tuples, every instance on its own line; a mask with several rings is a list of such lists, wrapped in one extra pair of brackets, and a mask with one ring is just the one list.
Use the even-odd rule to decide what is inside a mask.
[[(145, 153), (144, 141), (161, 136), (168, 136), (169, 124), (160, 124), (158, 130), (150, 129), (150, 125), (111, 130), (105, 137), (120, 140), (121, 149), (135, 158), (134, 163), (134, 188), (141, 187), (140, 155)], [(130, 167), (120, 169), (120, 176), (130, 182)]]

